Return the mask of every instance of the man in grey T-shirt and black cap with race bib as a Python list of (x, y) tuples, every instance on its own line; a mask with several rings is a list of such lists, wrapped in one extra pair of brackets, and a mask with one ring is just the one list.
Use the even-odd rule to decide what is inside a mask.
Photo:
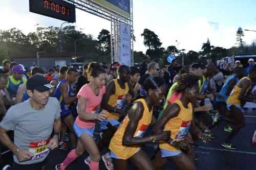
[[(13, 152), (14, 170), (41, 170), (50, 150), (58, 146), (60, 106), (49, 98), (50, 88), (43, 76), (31, 77), (30, 100), (12, 106), (0, 123), (0, 141)], [(14, 143), (7, 135), (10, 130), (14, 130)]]

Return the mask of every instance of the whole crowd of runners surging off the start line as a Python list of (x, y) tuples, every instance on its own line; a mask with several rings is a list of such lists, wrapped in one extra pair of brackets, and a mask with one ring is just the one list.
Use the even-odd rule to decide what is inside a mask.
[[(196, 141), (214, 142), (211, 129), (219, 124), (230, 132), (222, 146), (236, 149), (232, 139), (245, 125), (244, 105), (255, 106), (255, 85), (253, 59), (247, 67), (240, 61), (228, 67), (211, 61), (180, 66), (173, 60), (160, 68), (146, 56), (139, 68), (91, 62), (82, 71), (62, 66), (47, 72), (37, 66), (27, 71), (5, 60), (0, 69), (0, 149), (13, 153), (14, 164), (0, 163), (4, 170), (41, 170), (49, 153), (58, 149), (69, 153), (56, 170), (85, 152), (91, 170), (99, 169), (101, 159), (110, 170), (129, 169), (129, 163), (162, 169), (167, 161), (195, 170)], [(142, 148), (149, 143), (153, 157)]]

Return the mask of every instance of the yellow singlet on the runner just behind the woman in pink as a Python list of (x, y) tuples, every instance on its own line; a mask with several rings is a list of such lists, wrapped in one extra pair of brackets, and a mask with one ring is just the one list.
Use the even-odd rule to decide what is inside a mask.
[[(117, 79), (113, 80), (115, 83), (115, 89), (116, 92), (115, 94), (112, 94), (110, 96), (110, 99), (108, 101), (108, 104), (112, 107), (117, 107), (118, 109), (123, 109), (124, 105), (125, 105), (125, 101), (126, 101), (126, 95), (129, 92), (129, 85), (128, 83), (125, 83), (125, 88), (122, 89), (120, 87), (120, 85), (117, 82)], [(113, 113), (113, 112), (109, 112), (106, 114), (106, 118), (107, 119), (116, 119), (118, 120), (120, 117), (120, 115), (118, 113)]]

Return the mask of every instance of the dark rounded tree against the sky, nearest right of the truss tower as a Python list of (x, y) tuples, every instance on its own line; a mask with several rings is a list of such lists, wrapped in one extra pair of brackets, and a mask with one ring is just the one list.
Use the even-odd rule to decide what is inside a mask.
[(158, 35), (156, 35), (153, 31), (144, 29), (143, 33), (141, 34), (144, 37), (143, 44), (148, 47), (148, 50), (156, 50), (162, 45)]

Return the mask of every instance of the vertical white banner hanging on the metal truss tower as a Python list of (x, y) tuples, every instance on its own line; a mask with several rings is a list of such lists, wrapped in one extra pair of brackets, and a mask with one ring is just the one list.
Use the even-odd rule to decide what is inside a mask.
[(131, 55), (131, 28), (120, 24), (120, 63), (132, 65)]

